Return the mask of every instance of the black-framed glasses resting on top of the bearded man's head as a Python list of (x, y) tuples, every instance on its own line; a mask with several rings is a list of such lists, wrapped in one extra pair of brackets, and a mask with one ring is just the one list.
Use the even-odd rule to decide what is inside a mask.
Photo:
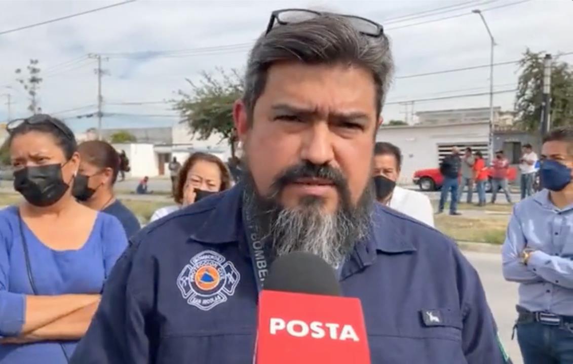
[[(266, 27), (265, 34), (269, 34), (269, 31), (271, 31), (273, 27), (277, 24), (279, 25), (296, 24), (308, 21), (316, 17), (320, 17), (321, 15), (328, 15), (328, 14), (334, 14), (334, 13), (321, 13), (320, 11), (314, 11), (308, 9), (274, 10), (270, 14), (269, 25)], [(350, 21), (352, 26), (354, 26), (354, 28), (358, 30), (359, 33), (362, 35), (379, 38), (382, 37), (382, 35), (384, 34), (384, 29), (382, 25), (373, 22), (370, 19), (356, 17), (355, 15), (344, 15), (344, 14), (334, 14), (334, 15), (348, 19), (348, 21)]]

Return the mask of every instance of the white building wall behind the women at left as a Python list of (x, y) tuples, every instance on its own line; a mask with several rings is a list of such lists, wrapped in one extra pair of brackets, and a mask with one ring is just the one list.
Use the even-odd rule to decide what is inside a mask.
[(155, 177), (159, 175), (158, 159), (154, 152), (153, 144), (113, 144), (113, 147), (117, 152), (125, 151), (129, 158), (131, 171), (126, 173), (126, 177), (142, 178), (144, 176)]

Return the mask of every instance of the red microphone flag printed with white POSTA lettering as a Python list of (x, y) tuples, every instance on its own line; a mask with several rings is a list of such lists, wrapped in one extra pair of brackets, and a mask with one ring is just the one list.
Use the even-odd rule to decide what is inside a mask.
[(369, 364), (358, 298), (263, 290), (257, 364)]

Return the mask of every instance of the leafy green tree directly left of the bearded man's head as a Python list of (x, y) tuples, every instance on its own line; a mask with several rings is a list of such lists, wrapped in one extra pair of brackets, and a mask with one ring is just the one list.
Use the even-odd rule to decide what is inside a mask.
[(191, 90), (179, 90), (181, 98), (172, 100), (173, 108), (179, 111), (182, 122), (186, 122), (199, 139), (208, 139), (213, 133), (221, 134), (222, 139), (229, 142), (234, 156), (237, 137), (233, 125), (233, 104), (243, 94), (242, 77), (237, 70), (215, 70), (218, 77), (203, 71), (197, 84), (186, 79)]

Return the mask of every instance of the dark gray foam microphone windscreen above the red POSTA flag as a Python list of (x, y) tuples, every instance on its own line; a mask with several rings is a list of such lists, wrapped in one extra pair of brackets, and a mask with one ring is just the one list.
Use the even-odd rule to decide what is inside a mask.
[(265, 279), (265, 290), (342, 296), (333, 268), (319, 256), (293, 252), (277, 258)]

